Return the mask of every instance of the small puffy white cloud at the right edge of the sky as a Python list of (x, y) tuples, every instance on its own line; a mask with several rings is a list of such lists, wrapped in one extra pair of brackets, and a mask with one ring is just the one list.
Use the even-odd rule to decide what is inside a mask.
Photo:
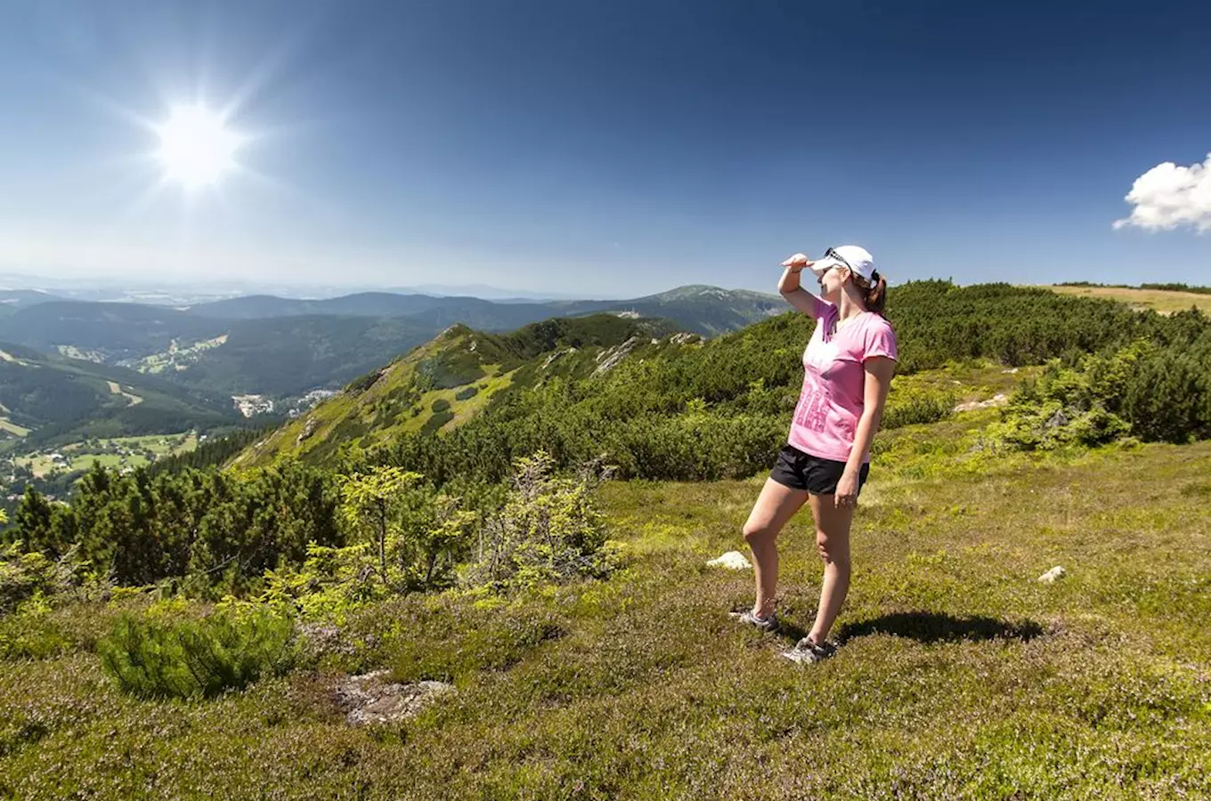
[(1136, 178), (1124, 198), (1132, 206), (1131, 217), (1114, 220), (1147, 231), (1172, 231), (1189, 226), (1211, 231), (1211, 154), (1201, 165), (1178, 167), (1171, 161), (1157, 165)]

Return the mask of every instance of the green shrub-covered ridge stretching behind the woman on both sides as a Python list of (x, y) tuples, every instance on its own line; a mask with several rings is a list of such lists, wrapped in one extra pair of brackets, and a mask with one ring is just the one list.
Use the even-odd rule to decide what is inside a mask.
[[(888, 315), (900, 340), (901, 378), (893, 390), (885, 428), (936, 420), (954, 405), (945, 387), (925, 391), (908, 380), (923, 370), (972, 361), (1012, 369), (1048, 359), (1077, 368), (1090, 353), (1113, 355), (1136, 341), (1149, 345), (1141, 346), (1144, 355), (1130, 374), (1097, 390), (1107, 397), (1094, 397), (1090, 390), (1066, 398), (1068, 416), (1079, 417), (1095, 407), (1123, 411), (1121, 404), (1131, 397), (1135, 405), (1124, 414), (1141, 431), (1155, 432), (1159, 428), (1149, 422), (1150, 415), (1173, 419), (1206, 397), (1199, 392), (1209, 380), (1203, 365), (1211, 359), (1200, 355), (1211, 344), (1206, 317), (1198, 312), (1164, 317), (1045, 289), (914, 282), (893, 290)], [(624, 476), (748, 476), (769, 463), (785, 436), (802, 380), (799, 356), (813, 324), (803, 315), (787, 313), (700, 345), (645, 345), (647, 350), (624, 356), (608, 371), (584, 375), (551, 373), (549, 359), (559, 358), (551, 352), (527, 370), (510, 374), (505, 384), (495, 368), (490, 374), (454, 373), (434, 390), (450, 400), (460, 388), (487, 397), (461, 409), (460, 425), (441, 433), (435, 433), (441, 425), (425, 425), (431, 405), (443, 403), (440, 393), (412, 391), (403, 402), (402, 396), (375, 391), (368, 400), (360, 400), (363, 388), (354, 386), (253, 446), (237, 463), (268, 463), (283, 455), (327, 462), (344, 456), (398, 465), (436, 480), (475, 477), (494, 482), (505, 476), (512, 460), (543, 448), (561, 465), (603, 455)], [(460, 348), (470, 358), (471, 342), (483, 336), (453, 332), (415, 358), (432, 358), (437, 352), (446, 359), (461, 358), (457, 356)], [(1149, 387), (1161, 382), (1181, 384), (1172, 397), (1183, 400), (1167, 408), (1146, 405)], [(503, 386), (516, 391), (498, 394)], [(350, 415), (352, 408), (362, 411)], [(369, 408), (373, 414), (366, 413)], [(446, 407), (441, 413), (441, 423), (454, 416)], [(408, 425), (418, 415), (424, 417)], [(1196, 434), (1205, 423), (1194, 421), (1205, 421), (1206, 415), (1192, 411), (1170, 428)]]

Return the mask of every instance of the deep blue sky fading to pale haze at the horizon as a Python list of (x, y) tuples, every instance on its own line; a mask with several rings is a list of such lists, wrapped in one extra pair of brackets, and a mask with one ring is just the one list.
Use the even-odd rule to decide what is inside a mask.
[[(894, 281), (1211, 284), (1209, 30), (1164, 0), (0, 0), (0, 272), (633, 296), (854, 242)], [(248, 140), (186, 192), (150, 126), (196, 100)]]

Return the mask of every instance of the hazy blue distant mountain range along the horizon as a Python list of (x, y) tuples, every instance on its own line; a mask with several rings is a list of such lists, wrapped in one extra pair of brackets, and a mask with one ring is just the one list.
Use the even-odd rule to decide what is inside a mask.
[(11, 306), (0, 316), (0, 340), (159, 374), (205, 392), (275, 397), (339, 387), (455, 324), (509, 332), (607, 312), (713, 336), (786, 310), (775, 295), (706, 286), (629, 300), (545, 302), (375, 292), (323, 300), (249, 295), (172, 309), (28, 290), (5, 290), (0, 302)]

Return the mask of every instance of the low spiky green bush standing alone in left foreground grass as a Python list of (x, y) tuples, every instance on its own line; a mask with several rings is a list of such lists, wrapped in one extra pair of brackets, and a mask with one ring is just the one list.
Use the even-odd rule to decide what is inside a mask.
[(119, 686), (143, 698), (210, 698), (288, 670), (297, 658), (292, 622), (258, 610), (200, 621), (124, 616), (98, 644)]

